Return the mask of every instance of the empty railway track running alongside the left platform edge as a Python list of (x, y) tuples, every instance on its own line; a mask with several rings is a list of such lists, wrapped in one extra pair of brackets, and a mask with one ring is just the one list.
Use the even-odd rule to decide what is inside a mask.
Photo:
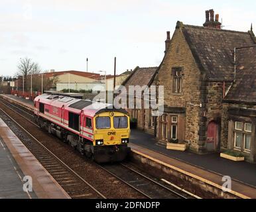
[[(58, 184), (68, 193), (71, 198), (103, 198), (106, 197), (97, 189), (84, 180), (58, 156), (52, 153), (39, 140), (24, 129), (17, 121), (0, 108), (0, 115), (3, 121), (19, 134), (19, 138), (35, 158), (44, 166), (49, 174), (58, 182)], [(24, 134), (26, 132), (26, 134)], [(29, 136), (27, 136), (29, 135)]]

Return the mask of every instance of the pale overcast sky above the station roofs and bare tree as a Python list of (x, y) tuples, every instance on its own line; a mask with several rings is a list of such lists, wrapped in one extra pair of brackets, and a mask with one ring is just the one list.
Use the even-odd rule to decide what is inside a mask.
[(256, 29), (256, 1), (1, 0), (0, 75), (12, 76), (19, 58), (41, 69), (106, 71), (159, 66), (166, 31), (176, 21), (199, 25), (205, 11), (220, 13), (225, 29)]

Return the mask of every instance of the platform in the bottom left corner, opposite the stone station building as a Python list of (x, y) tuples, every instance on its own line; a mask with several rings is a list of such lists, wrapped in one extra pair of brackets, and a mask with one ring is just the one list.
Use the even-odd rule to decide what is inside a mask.
[[(0, 119), (0, 199), (69, 199), (68, 194)], [(32, 179), (32, 191), (28, 188)]]

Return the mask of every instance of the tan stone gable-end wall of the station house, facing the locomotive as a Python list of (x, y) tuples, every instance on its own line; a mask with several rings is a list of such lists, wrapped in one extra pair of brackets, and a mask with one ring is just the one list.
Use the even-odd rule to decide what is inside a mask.
[[(182, 93), (173, 93), (172, 91), (172, 68), (175, 67), (182, 68)], [(158, 80), (159, 85), (164, 85), (164, 105), (186, 108), (184, 140), (189, 142), (190, 148), (196, 151), (198, 150), (201, 78), (200, 70), (196, 65), (182, 30), (177, 28), (160, 67)], [(158, 127), (160, 127), (160, 123)]]

